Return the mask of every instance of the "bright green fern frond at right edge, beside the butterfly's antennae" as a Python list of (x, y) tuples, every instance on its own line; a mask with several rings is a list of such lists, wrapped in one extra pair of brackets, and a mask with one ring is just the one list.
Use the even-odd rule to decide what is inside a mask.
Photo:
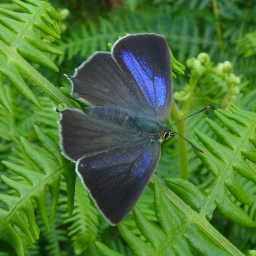
[(238, 183), (235, 173), (238, 172), (246, 179), (256, 182), (255, 169), (249, 163), (256, 162), (256, 115), (242, 111), (234, 105), (230, 107), (230, 111), (215, 112), (228, 131), (221, 125), (206, 119), (220, 142), (195, 131), (206, 152), (205, 155), (197, 152), (196, 154), (215, 176), (215, 184), (209, 190), (202, 212), (207, 215), (216, 205), (227, 218), (240, 225), (254, 227), (255, 222), (232, 200), (229, 194), (231, 193), (238, 202), (251, 205), (251, 200)]

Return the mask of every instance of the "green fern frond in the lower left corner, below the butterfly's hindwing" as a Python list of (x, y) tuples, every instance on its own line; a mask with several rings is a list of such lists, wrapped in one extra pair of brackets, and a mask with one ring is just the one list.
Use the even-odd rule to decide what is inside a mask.
[[(49, 219), (53, 221), (56, 212), (60, 175), (66, 179), (67, 186), (70, 188), (69, 194), (72, 194), (72, 186), (74, 187), (74, 178), (71, 177), (73, 172), (68, 172), (68, 167), (63, 166), (65, 160), (59, 153), (58, 145), (37, 126), (35, 126), (35, 131), (39, 141), (45, 146), (45, 153), (42, 154), (35, 150), (35, 147), (24, 138), (21, 138), (20, 141), (28, 159), (33, 161), (39, 172), (3, 161), (16, 177), (1, 176), (1, 179), (15, 191), (15, 194), (0, 195), (0, 201), (5, 205), (4, 208), (0, 208), (0, 239), (10, 243), (19, 255), (24, 255), (24, 246), (26, 244), (32, 246), (39, 236), (39, 229), (35, 221), (34, 203), (37, 205), (42, 222), (49, 231)], [(22, 179), (17, 180), (17, 177)], [(51, 194), (49, 213), (46, 206), (47, 187)], [(70, 210), (72, 209), (69, 206)]]

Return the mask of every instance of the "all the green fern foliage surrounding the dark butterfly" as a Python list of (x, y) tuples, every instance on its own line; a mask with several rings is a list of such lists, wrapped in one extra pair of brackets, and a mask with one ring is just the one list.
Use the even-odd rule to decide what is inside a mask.
[[(254, 0), (1, 0), (0, 255), (255, 255), (255, 13)], [(206, 154), (162, 143), (133, 214), (110, 226), (61, 155), (54, 107), (84, 108), (63, 74), (142, 32), (175, 56), (167, 123), (210, 105), (174, 127)]]

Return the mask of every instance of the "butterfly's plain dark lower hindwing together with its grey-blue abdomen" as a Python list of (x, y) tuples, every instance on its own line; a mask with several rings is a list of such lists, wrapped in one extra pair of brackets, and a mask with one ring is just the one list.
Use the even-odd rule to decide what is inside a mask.
[(60, 144), (63, 154), (71, 161), (147, 140), (139, 137), (129, 124), (127, 112), (108, 106), (96, 110), (89, 108), (91, 115), (69, 109), (60, 112)]

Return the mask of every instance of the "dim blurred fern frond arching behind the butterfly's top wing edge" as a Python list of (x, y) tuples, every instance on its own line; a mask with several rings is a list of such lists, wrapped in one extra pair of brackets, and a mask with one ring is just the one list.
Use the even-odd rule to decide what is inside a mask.
[[(199, 31), (196, 26), (193, 26), (196, 24), (195, 17), (188, 17), (186, 14), (179, 16), (179, 18), (170, 16), (169, 13), (172, 12), (172, 8), (169, 6), (160, 6), (157, 12), (154, 8), (148, 7), (146, 12), (147, 15), (143, 17), (139, 11), (134, 11), (125, 17), (122, 13), (116, 12), (109, 19), (99, 18), (98, 27), (89, 22), (87, 27), (78, 28), (78, 32), (70, 32), (70, 36), (64, 41), (57, 40), (58, 48), (65, 54), (58, 57), (57, 62), (60, 64), (64, 59), (71, 59), (77, 53), (81, 57), (88, 57), (94, 51), (106, 51), (109, 42), (115, 42), (119, 36), (126, 33), (152, 31), (166, 37), (173, 52), (178, 53), (176, 57), (181, 62), (188, 55), (194, 56), (195, 53), (199, 53), (202, 46), (205, 49), (214, 47), (215, 51), (217, 50), (217, 42), (212, 40), (214, 26), (210, 26), (210, 28), (208, 26), (204, 38), (198, 38)], [(115, 20), (118, 20), (118, 26), (115, 25)], [(182, 26), (168, 25), (172, 23), (182, 24)], [(193, 36), (188, 37), (188, 32)], [(190, 51), (189, 54), (188, 50)]]

